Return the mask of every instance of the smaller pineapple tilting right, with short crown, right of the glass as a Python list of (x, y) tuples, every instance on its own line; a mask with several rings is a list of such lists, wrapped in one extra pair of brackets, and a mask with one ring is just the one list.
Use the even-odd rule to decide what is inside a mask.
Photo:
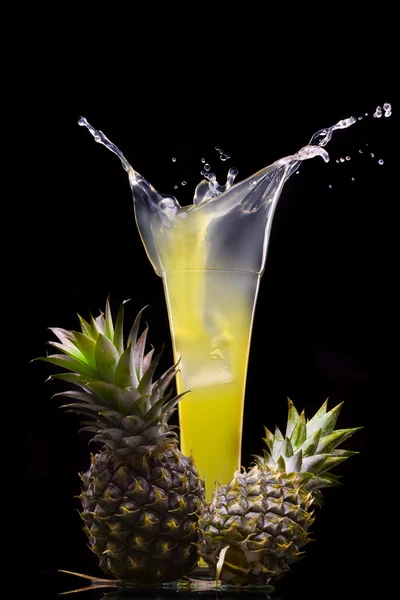
[(215, 488), (199, 520), (198, 547), (218, 579), (269, 583), (303, 554), (320, 489), (337, 485), (331, 469), (357, 454), (336, 449), (359, 429), (334, 431), (341, 406), (327, 412), (325, 402), (306, 422), (289, 400), (286, 435), (265, 429), (264, 457)]

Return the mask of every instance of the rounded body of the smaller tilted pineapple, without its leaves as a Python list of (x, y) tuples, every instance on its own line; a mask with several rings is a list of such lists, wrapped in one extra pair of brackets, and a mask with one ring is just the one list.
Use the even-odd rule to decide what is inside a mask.
[(269, 583), (284, 575), (310, 541), (313, 501), (300, 473), (261, 465), (237, 472), (227, 486), (215, 489), (199, 520), (198, 548), (211, 574), (229, 546), (222, 581)]

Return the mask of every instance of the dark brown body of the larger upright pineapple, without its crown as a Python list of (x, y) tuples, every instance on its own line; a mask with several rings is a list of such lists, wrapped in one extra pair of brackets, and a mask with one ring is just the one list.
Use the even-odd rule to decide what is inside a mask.
[(204, 485), (175, 444), (135, 461), (104, 449), (81, 479), (84, 531), (103, 571), (147, 583), (196, 566)]

